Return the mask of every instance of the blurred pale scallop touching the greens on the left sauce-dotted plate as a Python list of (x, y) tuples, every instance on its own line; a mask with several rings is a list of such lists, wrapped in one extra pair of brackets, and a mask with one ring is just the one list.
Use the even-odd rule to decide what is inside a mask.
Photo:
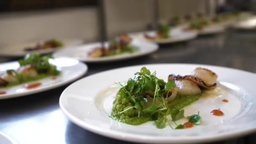
[(31, 77), (32, 78), (32, 77), (36, 77), (38, 75), (35, 68), (32, 67), (31, 65), (26, 65), (26, 66), (19, 67), (17, 72), (19, 74), (21, 74), (22, 77)]

